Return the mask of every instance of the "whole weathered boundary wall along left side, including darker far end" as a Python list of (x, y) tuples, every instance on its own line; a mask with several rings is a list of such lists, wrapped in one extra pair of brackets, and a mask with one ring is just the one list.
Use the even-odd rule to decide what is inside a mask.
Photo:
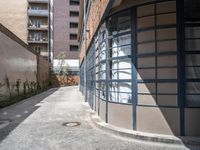
[(50, 64), (45, 58), (1, 24), (0, 41), (0, 100), (36, 89), (37, 81), (47, 84)]

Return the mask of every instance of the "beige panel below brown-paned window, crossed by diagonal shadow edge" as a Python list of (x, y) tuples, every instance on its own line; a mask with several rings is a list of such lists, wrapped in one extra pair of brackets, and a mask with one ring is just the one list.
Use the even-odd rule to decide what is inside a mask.
[(137, 130), (150, 133), (179, 135), (178, 108), (137, 106)]

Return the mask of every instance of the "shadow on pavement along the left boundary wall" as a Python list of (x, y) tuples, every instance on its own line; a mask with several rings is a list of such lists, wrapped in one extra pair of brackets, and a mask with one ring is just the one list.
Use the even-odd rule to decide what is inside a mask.
[(0, 142), (6, 138), (21, 122), (36, 111), (43, 100), (56, 92), (59, 88), (52, 88), (43, 93), (25, 99), (19, 103), (0, 109), (0, 121), (9, 121), (6, 126), (0, 123)]

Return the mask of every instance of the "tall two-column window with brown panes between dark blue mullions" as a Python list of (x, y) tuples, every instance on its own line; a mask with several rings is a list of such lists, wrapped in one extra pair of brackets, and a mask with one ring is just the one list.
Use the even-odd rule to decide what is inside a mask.
[(139, 105), (178, 105), (176, 43), (175, 1), (137, 8)]

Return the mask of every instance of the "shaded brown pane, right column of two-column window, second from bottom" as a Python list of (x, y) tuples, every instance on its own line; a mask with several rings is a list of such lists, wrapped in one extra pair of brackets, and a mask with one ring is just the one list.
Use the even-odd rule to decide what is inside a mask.
[(157, 83), (158, 93), (177, 93), (177, 83)]

